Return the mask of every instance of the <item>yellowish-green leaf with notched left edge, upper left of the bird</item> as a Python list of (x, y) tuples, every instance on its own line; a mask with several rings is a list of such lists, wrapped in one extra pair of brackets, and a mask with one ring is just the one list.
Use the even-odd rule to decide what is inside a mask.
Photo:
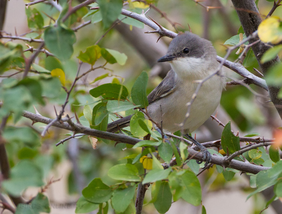
[(92, 45), (86, 48), (86, 51), (83, 53), (80, 51), (79, 56), (77, 57), (82, 62), (94, 65), (97, 59), (101, 57), (101, 48), (98, 45)]

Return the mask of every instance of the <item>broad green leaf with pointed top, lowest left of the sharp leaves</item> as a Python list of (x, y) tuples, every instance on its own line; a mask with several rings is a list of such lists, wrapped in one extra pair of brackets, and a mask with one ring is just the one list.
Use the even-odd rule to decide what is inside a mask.
[(82, 190), (82, 195), (87, 201), (103, 203), (112, 197), (112, 188), (104, 184), (101, 178), (94, 178), (90, 184)]

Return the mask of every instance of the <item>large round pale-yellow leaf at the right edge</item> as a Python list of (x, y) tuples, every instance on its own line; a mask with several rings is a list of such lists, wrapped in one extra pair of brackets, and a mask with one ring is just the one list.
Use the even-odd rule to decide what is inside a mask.
[(262, 42), (277, 44), (282, 40), (282, 30), (279, 28), (279, 17), (272, 16), (259, 24), (258, 35)]

